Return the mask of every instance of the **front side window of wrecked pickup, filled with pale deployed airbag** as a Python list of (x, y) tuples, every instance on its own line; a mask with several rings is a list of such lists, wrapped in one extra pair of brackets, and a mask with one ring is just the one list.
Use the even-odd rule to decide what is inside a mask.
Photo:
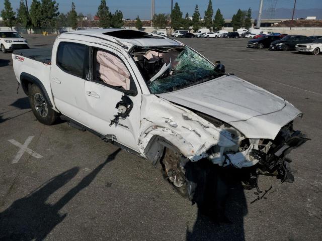
[(130, 73), (116, 55), (103, 50), (94, 50), (94, 81), (119, 88), (130, 89)]

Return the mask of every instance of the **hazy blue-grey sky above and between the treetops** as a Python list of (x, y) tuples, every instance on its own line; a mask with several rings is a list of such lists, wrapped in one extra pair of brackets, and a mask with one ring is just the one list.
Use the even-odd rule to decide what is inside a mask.
[[(10, 0), (13, 9), (19, 6), (20, 0)], [(27, 0), (30, 6), (32, 0)], [(66, 13), (70, 10), (71, 2), (69, 0), (56, 0), (59, 3), (59, 12)], [(77, 13), (82, 12), (84, 15), (92, 14), (95, 15), (97, 8), (100, 4), (100, 0), (74, 0), (76, 5)], [(107, 0), (107, 5), (110, 11), (115, 12), (119, 9), (123, 12), (124, 18), (133, 19), (137, 15), (140, 19), (150, 19), (150, 8), (151, 0)], [(155, 13), (170, 13), (171, 0), (155, 0)], [(201, 17), (204, 16), (204, 11), (208, 6), (209, 0), (174, 0), (178, 2), (181, 12), (184, 15), (188, 12), (191, 16), (195, 10), (196, 4), (199, 6), (199, 12)], [(294, 0), (264, 0), (264, 9), (271, 8), (272, 3), (277, 2), (276, 8), (287, 8), (292, 9), (294, 5)], [(212, 5), (214, 11), (218, 8), (223, 13), (223, 17), (226, 19), (231, 18), (231, 16), (237, 12), (240, 8), (246, 10), (252, 8), (254, 11), (258, 11), (260, 0), (213, 0)], [(0, 11), (4, 8), (4, 0), (0, 0)], [(322, 9), (322, 0), (297, 0), (297, 9)], [(253, 16), (254, 17), (254, 16)], [(256, 17), (255, 17), (256, 18)]]

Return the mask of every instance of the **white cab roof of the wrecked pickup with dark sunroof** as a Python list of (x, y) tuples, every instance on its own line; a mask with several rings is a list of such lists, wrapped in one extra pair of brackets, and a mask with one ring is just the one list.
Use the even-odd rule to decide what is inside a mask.
[[(160, 46), (183, 46), (176, 40), (163, 37), (160, 35), (152, 35), (143, 31), (127, 30), (127, 29), (88, 29), (67, 32), (61, 34), (85, 35), (89, 37), (99, 38), (112, 41), (117, 44), (140, 46), (140, 47), (160, 47)], [(144, 35), (144, 36), (143, 36)], [(147, 37), (150, 36), (150, 37)]]

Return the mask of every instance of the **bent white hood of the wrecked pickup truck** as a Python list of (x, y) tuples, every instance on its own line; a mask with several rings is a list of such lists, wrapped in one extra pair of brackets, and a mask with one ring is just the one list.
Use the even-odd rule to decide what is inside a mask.
[(301, 114), (284, 99), (234, 75), (157, 96), (221, 119), (248, 138), (274, 139)]

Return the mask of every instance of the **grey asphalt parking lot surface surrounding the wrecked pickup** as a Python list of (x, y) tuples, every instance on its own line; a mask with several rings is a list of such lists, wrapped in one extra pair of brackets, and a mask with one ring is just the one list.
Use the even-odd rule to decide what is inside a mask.
[[(25, 37), (35, 48), (55, 39)], [(180, 41), (304, 112), (294, 127), (311, 141), (289, 155), (295, 182), (273, 179), (253, 204), (256, 190), (234, 184), (231, 223), (213, 223), (149, 162), (62, 121), (36, 121), (22, 89), (16, 93), (11, 54), (0, 53), (0, 240), (322, 239), (322, 54), (248, 49), (246, 39)], [(19, 153), (22, 146), (39, 156)], [(262, 190), (270, 184), (260, 179)]]

